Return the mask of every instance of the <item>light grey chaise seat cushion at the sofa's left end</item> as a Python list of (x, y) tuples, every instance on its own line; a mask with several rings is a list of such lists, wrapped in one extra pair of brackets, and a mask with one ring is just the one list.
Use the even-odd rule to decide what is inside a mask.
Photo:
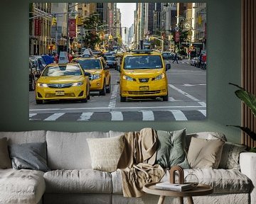
[(38, 203), (46, 190), (43, 171), (0, 169), (0, 203)]

